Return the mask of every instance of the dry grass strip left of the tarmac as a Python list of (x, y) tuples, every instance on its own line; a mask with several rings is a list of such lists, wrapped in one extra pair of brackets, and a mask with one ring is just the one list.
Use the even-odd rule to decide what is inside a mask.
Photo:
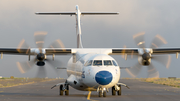
[(12, 87), (24, 84), (32, 84), (36, 82), (45, 82), (55, 79), (45, 79), (45, 78), (0, 78), (0, 88)]

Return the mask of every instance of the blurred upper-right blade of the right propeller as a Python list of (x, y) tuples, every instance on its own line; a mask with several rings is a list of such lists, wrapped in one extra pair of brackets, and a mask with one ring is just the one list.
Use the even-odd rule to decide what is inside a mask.
[(164, 44), (167, 44), (167, 41), (160, 35), (156, 35), (151, 43), (150, 48), (158, 48)]

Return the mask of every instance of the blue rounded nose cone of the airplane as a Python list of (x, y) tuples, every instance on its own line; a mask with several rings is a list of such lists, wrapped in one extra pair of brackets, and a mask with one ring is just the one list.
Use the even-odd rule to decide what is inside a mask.
[(96, 82), (101, 85), (107, 85), (112, 81), (112, 74), (108, 71), (100, 71), (96, 74)]

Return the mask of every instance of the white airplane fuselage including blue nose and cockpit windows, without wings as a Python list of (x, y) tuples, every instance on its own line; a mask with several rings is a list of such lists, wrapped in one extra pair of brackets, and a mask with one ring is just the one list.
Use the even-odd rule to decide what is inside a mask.
[(118, 83), (120, 68), (111, 56), (77, 52), (76, 59), (76, 62), (73, 63), (73, 57), (71, 57), (67, 66), (69, 76), (67, 82), (73, 88), (96, 91), (99, 87), (110, 88)]

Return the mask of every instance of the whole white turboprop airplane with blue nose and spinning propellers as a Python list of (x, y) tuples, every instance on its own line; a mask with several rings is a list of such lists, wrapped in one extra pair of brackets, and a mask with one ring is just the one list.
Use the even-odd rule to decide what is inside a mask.
[[(159, 57), (157, 54), (177, 54), (180, 52), (180, 48), (157, 48), (165, 40), (159, 35), (156, 36), (152, 48), (144, 48), (144, 41), (142, 37), (144, 33), (140, 33), (134, 36), (137, 44), (140, 48), (83, 48), (81, 40), (81, 15), (105, 15), (105, 14), (118, 14), (118, 13), (94, 13), (94, 12), (80, 12), (79, 7), (76, 6), (76, 12), (57, 12), (57, 13), (36, 13), (38, 15), (75, 15), (76, 16), (76, 33), (77, 33), (77, 48), (56, 48), (55, 44), (51, 45), (51, 48), (42, 48), (43, 39), (46, 33), (35, 33), (35, 41), (38, 48), (30, 48), (25, 45), (24, 40), (21, 42), (18, 48), (0, 48), (1, 57), (3, 54), (16, 54), (16, 55), (28, 55), (29, 60), (31, 55), (35, 55), (36, 58), (31, 60), (25, 65), (31, 67), (34, 63), (39, 66), (40, 71), (43, 71), (45, 62), (48, 62), (46, 56), (52, 55), (54, 60), (55, 55), (72, 54), (72, 57), (67, 64), (68, 78), (65, 83), (59, 83), (53, 86), (60, 86), (60, 95), (69, 95), (69, 86), (82, 91), (97, 91), (99, 97), (106, 97), (106, 92), (109, 88), (112, 88), (112, 95), (121, 95), (121, 86), (126, 86), (123, 83), (118, 83), (120, 79), (120, 66), (118, 66), (116, 60), (110, 55), (127, 55), (138, 56), (138, 61), (142, 66), (149, 66), (149, 76), (157, 77), (158, 72), (151, 66), (151, 59)], [(159, 39), (160, 41), (157, 41)], [(56, 41), (61, 45), (60, 41)], [(26, 46), (27, 48), (21, 48)], [(61, 45), (62, 46), (62, 45)], [(157, 56), (156, 56), (157, 55)], [(160, 61), (163, 63), (163, 61)], [(165, 61), (167, 63), (167, 61)], [(53, 65), (53, 64), (52, 64)], [(17, 63), (21, 72), (25, 72), (28, 68), (23, 67), (21, 63)], [(128, 72), (135, 76), (138, 74), (141, 66), (136, 68), (127, 69)], [(64, 68), (59, 68), (64, 69)], [(154, 76), (152, 76), (154, 75)], [(126, 86), (127, 87), (127, 86)]]

